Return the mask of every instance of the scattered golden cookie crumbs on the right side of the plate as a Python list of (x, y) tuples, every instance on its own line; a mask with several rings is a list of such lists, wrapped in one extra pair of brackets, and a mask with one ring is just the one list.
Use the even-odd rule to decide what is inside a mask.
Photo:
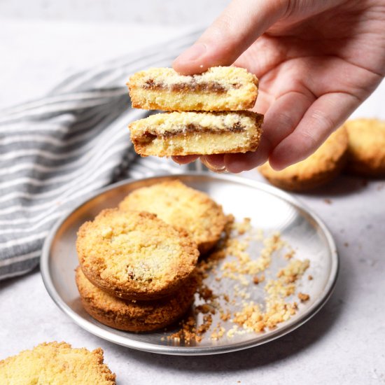
[[(263, 237), (251, 227), (249, 218), (235, 223), (228, 216), (225, 233), (216, 250), (198, 263), (201, 280), (193, 314), (163, 340), (190, 345), (202, 342), (205, 335), (218, 340), (263, 332), (299, 310), (297, 281), (307, 271), (309, 260), (295, 258), (295, 251), (279, 233)], [(277, 261), (284, 266), (273, 276), (270, 267)], [(298, 293), (297, 298), (303, 303), (309, 295)]]

